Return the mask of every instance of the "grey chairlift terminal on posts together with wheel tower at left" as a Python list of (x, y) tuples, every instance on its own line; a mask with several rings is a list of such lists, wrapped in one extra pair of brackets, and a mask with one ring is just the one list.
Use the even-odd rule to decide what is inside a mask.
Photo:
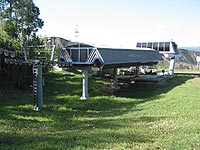
[[(78, 45), (78, 46), (77, 46)], [(42, 47), (42, 46), (40, 46)], [(5, 62), (8, 64), (29, 64), (33, 68), (33, 93), (34, 110), (39, 111), (43, 107), (43, 79), (42, 66), (53, 66), (57, 64), (61, 68), (73, 67), (82, 70), (82, 96), (81, 100), (89, 98), (88, 94), (88, 72), (102, 69), (113, 69), (113, 87), (119, 89), (117, 68), (136, 66), (136, 74), (139, 75), (139, 66), (155, 65), (162, 60), (160, 53), (153, 49), (135, 48), (101, 48), (83, 43), (68, 44), (67, 47), (60, 42), (60, 53), (58, 59), (54, 60), (55, 46), (51, 46), (51, 58), (22, 60), (14, 57), (13, 52), (0, 50), (4, 53)], [(28, 56), (28, 55), (26, 55)]]

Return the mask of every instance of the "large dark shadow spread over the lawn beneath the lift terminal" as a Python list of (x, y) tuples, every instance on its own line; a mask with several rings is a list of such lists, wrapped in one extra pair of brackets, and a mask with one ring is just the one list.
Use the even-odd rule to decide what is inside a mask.
[(80, 101), (80, 74), (50, 74), (41, 112), (33, 112), (26, 97), (14, 105), (12, 99), (0, 101), (0, 146), (4, 149), (112, 149), (117, 145), (131, 149), (133, 143), (152, 143), (155, 135), (146, 134), (145, 129), (166, 116), (127, 116), (128, 113), (142, 111), (137, 104), (158, 99), (160, 94), (190, 79), (177, 76), (162, 85), (123, 85), (113, 91), (102, 88), (104, 83), (91, 77), (89, 92), (94, 97)]

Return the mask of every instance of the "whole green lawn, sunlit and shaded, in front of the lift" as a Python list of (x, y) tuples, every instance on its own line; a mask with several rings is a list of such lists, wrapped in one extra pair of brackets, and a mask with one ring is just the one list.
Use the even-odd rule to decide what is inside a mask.
[(31, 89), (0, 87), (0, 149), (200, 149), (200, 78), (121, 85), (81, 74), (45, 77), (44, 108), (33, 111)]

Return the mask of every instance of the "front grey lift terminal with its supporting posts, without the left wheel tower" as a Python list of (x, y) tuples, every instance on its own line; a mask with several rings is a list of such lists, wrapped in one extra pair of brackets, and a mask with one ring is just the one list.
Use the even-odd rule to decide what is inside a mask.
[[(158, 51), (153, 49), (122, 49), (122, 48), (100, 48), (93, 47), (89, 55), (81, 55), (82, 51), (89, 51), (92, 47), (79, 49), (72, 53), (85, 61), (72, 61), (72, 66), (82, 70), (82, 96), (81, 100), (89, 98), (88, 94), (88, 71), (101, 71), (102, 69), (113, 69), (113, 88), (119, 89), (117, 68), (136, 66), (136, 75), (139, 76), (139, 66), (155, 65), (162, 60)], [(86, 52), (86, 51), (85, 51)]]

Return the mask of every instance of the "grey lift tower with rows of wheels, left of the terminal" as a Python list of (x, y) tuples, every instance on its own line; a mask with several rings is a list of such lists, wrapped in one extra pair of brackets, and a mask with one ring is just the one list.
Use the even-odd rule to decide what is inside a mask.
[(6, 49), (0, 48), (0, 55), (4, 55), (3, 60), (6, 64), (10, 65), (30, 65), (32, 66), (33, 73), (33, 103), (34, 110), (39, 111), (43, 107), (43, 77), (42, 77), (42, 67), (43, 66), (54, 66), (58, 65), (60, 67), (72, 67), (72, 60), (68, 53), (65, 51), (60, 51), (59, 57), (65, 57), (66, 61), (54, 60), (55, 45), (48, 45), (51, 49), (51, 56), (49, 59), (30, 59), (28, 56), (27, 48), (45, 48), (46, 45), (40, 46), (27, 46), (23, 48), (24, 59), (16, 58), (15, 51), (8, 51)]

